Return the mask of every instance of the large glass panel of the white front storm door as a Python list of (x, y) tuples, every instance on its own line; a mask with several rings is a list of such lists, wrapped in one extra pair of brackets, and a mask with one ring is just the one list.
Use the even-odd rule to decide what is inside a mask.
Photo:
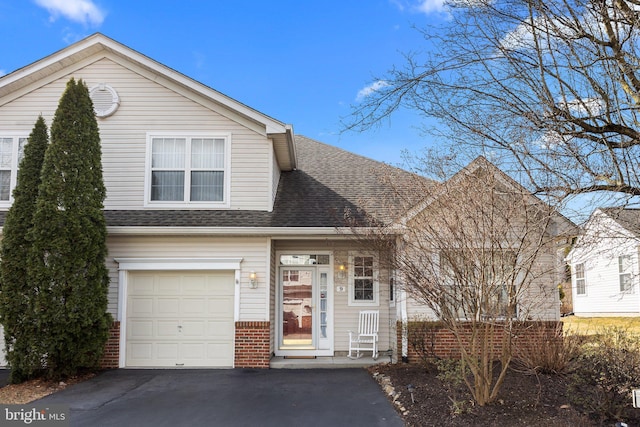
[(282, 348), (314, 348), (313, 268), (281, 268)]

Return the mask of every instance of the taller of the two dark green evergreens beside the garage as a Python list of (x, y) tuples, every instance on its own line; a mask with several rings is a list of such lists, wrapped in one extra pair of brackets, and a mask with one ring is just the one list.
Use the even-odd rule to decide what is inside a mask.
[(51, 125), (51, 144), (30, 234), (29, 280), (46, 376), (97, 366), (109, 336), (108, 271), (98, 124), (82, 80), (71, 79)]

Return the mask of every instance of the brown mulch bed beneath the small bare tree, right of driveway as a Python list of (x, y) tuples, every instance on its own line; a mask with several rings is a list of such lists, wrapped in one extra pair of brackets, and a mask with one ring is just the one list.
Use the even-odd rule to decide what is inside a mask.
[[(497, 402), (473, 405), (464, 384), (452, 387), (419, 365), (378, 365), (370, 368), (407, 426), (599, 426), (572, 407), (568, 380), (558, 375), (510, 371)], [(412, 385), (413, 401), (407, 386)], [(638, 419), (625, 420), (629, 426)], [(613, 426), (614, 423), (604, 425)]]

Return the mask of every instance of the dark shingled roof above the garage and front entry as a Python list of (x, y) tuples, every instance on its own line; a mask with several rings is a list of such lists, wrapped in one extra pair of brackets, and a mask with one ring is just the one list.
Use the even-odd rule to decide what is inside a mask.
[[(295, 137), (298, 168), (283, 172), (272, 212), (246, 210), (105, 210), (110, 227), (344, 227), (387, 222), (406, 208), (397, 200), (421, 178), (375, 160)], [(4, 223), (5, 212), (0, 212)]]

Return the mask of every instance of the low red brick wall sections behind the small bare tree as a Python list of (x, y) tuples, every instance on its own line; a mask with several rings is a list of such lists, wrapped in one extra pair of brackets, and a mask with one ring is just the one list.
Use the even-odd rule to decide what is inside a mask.
[[(402, 331), (402, 323), (397, 324), (398, 331)], [(497, 327), (491, 343), (492, 352), (498, 359), (502, 354), (505, 330)], [(471, 328), (462, 325), (462, 345), (468, 346)], [(544, 345), (551, 339), (562, 339), (562, 322), (555, 321), (527, 321), (514, 324), (511, 329), (511, 342), (514, 357), (520, 352), (531, 352)], [(402, 334), (397, 334), (398, 354), (402, 355)], [(467, 347), (469, 351), (469, 347)], [(459, 358), (460, 345), (454, 334), (438, 322), (409, 322), (408, 323), (408, 362), (419, 362), (425, 357), (443, 359)]]

